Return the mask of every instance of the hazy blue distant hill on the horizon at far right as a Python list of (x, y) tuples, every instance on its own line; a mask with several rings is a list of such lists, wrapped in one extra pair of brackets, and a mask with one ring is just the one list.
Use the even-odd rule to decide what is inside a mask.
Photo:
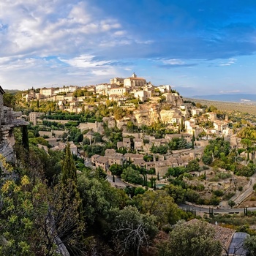
[(220, 102), (256, 103), (256, 94), (195, 95), (188, 98), (217, 100)]

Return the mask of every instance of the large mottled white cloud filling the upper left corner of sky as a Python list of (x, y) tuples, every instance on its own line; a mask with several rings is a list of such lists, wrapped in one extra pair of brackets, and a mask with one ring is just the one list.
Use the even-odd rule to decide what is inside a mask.
[(0, 17), (7, 28), (0, 31), (1, 56), (78, 53), (124, 35), (118, 20), (98, 15), (86, 1), (1, 1)]

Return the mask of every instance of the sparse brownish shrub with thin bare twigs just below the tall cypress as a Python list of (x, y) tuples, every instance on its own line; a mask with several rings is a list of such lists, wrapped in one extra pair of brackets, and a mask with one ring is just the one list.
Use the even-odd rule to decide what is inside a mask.
[(66, 184), (57, 184), (53, 188), (49, 207), (49, 223), (61, 244), (64, 244), (72, 255), (83, 255), (85, 222), (82, 218), (82, 202), (76, 184), (68, 180)]

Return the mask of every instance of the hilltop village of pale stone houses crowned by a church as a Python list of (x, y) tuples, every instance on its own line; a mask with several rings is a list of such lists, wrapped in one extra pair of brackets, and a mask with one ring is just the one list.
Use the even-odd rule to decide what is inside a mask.
[[(37, 92), (38, 91), (38, 92)], [(154, 86), (144, 78), (138, 78), (135, 73), (130, 78), (113, 78), (110, 83), (98, 84), (96, 86), (64, 86), (62, 88), (42, 88), (29, 89), (28, 93), (22, 94), (23, 101), (29, 105), (31, 102), (37, 102), (39, 105), (43, 102), (53, 102), (54, 110), (67, 111), (69, 113), (81, 114), (91, 113), (100, 105), (107, 106), (107, 112), (110, 113), (95, 121), (91, 118), (87, 122), (80, 121), (78, 129), (83, 133), (83, 139), (89, 140), (89, 143), (97, 145), (94, 133), (105, 135), (104, 124), (109, 128), (117, 127), (121, 129), (122, 138), (116, 143), (116, 150), (123, 148), (127, 153), (118, 153), (115, 149), (108, 150), (104, 156), (95, 154), (92, 157), (86, 157), (86, 165), (102, 167), (103, 170), (109, 170), (109, 167), (116, 163), (122, 165), (128, 159), (135, 162), (135, 165), (146, 166), (149, 170), (154, 168), (159, 176), (165, 176), (169, 167), (187, 166), (188, 162), (195, 158), (200, 158), (202, 151), (192, 150), (192, 140), (196, 148), (208, 145), (211, 138), (225, 137), (230, 138), (233, 135), (231, 121), (225, 118), (217, 118), (217, 113), (207, 112), (203, 106), (193, 105), (191, 102), (184, 102), (178, 91), (171, 86)], [(115, 109), (116, 108), (116, 109)], [(111, 115), (112, 113), (112, 115)], [(99, 116), (99, 110), (95, 116)], [(32, 111), (27, 118), (32, 124), (42, 124), (42, 121), (49, 118), (45, 113)], [(50, 116), (48, 121), (56, 121), (61, 124), (68, 120), (53, 119)], [(203, 125), (208, 123), (209, 125)], [(157, 126), (165, 128), (165, 134), (154, 132), (143, 132), (143, 127), (152, 127), (157, 130)], [(138, 127), (142, 129), (138, 129)], [(86, 131), (86, 132), (85, 132)], [(169, 132), (168, 132), (169, 131)], [(65, 130), (39, 131), (42, 137), (48, 137), (47, 140), (52, 146), (51, 149), (63, 149), (63, 143), (60, 142)], [(164, 148), (173, 138), (183, 138), (187, 146), (181, 150), (167, 150), (165, 154), (154, 153), (154, 159), (151, 162), (145, 162), (145, 154), (151, 154), (152, 146)], [(193, 139), (194, 138), (194, 139)], [(103, 140), (108, 138), (104, 138)], [(100, 145), (101, 142), (98, 142)], [(233, 145), (236, 147), (236, 139), (233, 139)], [(73, 154), (84, 155), (83, 148), (71, 142)], [(45, 150), (48, 150), (45, 148)]]

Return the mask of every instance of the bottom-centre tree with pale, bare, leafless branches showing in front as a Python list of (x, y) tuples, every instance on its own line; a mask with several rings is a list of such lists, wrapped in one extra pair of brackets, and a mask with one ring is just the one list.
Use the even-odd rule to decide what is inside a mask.
[(113, 209), (110, 211), (109, 221), (113, 239), (118, 241), (123, 255), (135, 252), (139, 256), (140, 247), (147, 248), (158, 230), (154, 216), (140, 214), (133, 206), (124, 207), (122, 210)]

